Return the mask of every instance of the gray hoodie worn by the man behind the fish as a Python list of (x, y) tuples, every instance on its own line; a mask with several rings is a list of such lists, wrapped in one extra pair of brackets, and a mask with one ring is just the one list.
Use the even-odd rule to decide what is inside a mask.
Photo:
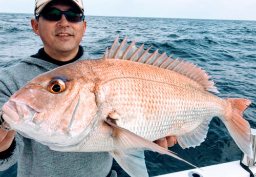
[[(39, 53), (39, 52), (38, 52)], [(83, 53), (83, 52), (82, 52)], [(76, 60), (86, 60), (84, 52)], [(28, 57), (17, 65), (0, 70), (0, 107), (9, 97), (34, 77), (52, 70), (58, 65), (35, 57)], [(108, 152), (58, 152), (34, 140), (15, 134), (12, 155), (0, 160), (0, 171), (18, 163), (17, 176), (106, 176), (113, 158)], [(8, 176), (8, 174), (6, 174)], [(112, 171), (111, 177), (117, 176)]]

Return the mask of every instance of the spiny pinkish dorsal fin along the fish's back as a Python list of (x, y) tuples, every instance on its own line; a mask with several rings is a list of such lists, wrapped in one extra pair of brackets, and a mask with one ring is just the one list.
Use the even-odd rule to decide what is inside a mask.
[(149, 53), (148, 50), (150, 50), (152, 46), (147, 50), (143, 49), (144, 44), (138, 48), (135, 45), (135, 40), (131, 45), (128, 45), (126, 41), (127, 37), (125, 37), (123, 42), (119, 44), (118, 38), (119, 36), (117, 36), (110, 51), (108, 51), (108, 48), (106, 49), (103, 58), (137, 61), (139, 63), (172, 70), (197, 81), (205, 88), (205, 90), (219, 93), (214, 86), (216, 83), (214, 81), (209, 81), (210, 76), (208, 76), (208, 73), (205, 72), (205, 70), (201, 70), (201, 67), (197, 68), (197, 65), (194, 65), (193, 63), (184, 62), (185, 59), (182, 61), (180, 61), (179, 58), (173, 59), (173, 54), (168, 57), (165, 52), (159, 54), (158, 50), (154, 53)]

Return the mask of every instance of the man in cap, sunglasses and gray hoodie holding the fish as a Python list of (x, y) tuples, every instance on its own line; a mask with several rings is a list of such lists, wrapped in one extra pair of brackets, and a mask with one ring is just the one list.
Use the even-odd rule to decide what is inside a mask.
[[(37, 75), (75, 61), (88, 59), (79, 46), (86, 32), (81, 0), (38, 0), (33, 31), (40, 36), (44, 48), (19, 64), (0, 72), (0, 107), (19, 88)], [(173, 146), (167, 137), (157, 143)], [(169, 143), (168, 143), (169, 142)], [(111, 170), (108, 152), (57, 152), (15, 131), (0, 128), (0, 171), (18, 163), (18, 176), (117, 176)]]

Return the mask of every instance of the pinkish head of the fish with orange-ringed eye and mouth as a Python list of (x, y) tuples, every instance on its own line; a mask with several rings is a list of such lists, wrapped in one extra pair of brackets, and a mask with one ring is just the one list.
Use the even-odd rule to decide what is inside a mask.
[(5, 121), (45, 145), (78, 143), (98, 110), (95, 84), (90, 74), (80, 73), (71, 65), (37, 76), (4, 104)]

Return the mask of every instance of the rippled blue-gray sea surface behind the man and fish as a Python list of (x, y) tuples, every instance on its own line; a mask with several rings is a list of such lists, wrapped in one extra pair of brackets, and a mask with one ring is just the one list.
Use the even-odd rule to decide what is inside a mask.
[[(42, 42), (31, 26), (33, 14), (0, 13), (0, 69), (15, 65), (22, 58), (35, 54)], [(256, 21), (222, 21), (207, 19), (141, 18), (87, 16), (87, 30), (81, 45), (92, 58), (101, 58), (119, 35), (130, 44), (153, 45), (150, 52), (174, 53), (209, 73), (221, 97), (239, 97), (252, 102), (244, 118), (256, 128)], [(209, 125), (205, 142), (196, 148), (177, 152), (186, 161), (198, 166), (220, 164), (240, 159), (241, 151), (218, 117)], [(150, 176), (193, 168), (167, 155), (145, 152)], [(16, 176), (14, 165), (0, 176)], [(128, 176), (116, 163), (119, 176)]]

